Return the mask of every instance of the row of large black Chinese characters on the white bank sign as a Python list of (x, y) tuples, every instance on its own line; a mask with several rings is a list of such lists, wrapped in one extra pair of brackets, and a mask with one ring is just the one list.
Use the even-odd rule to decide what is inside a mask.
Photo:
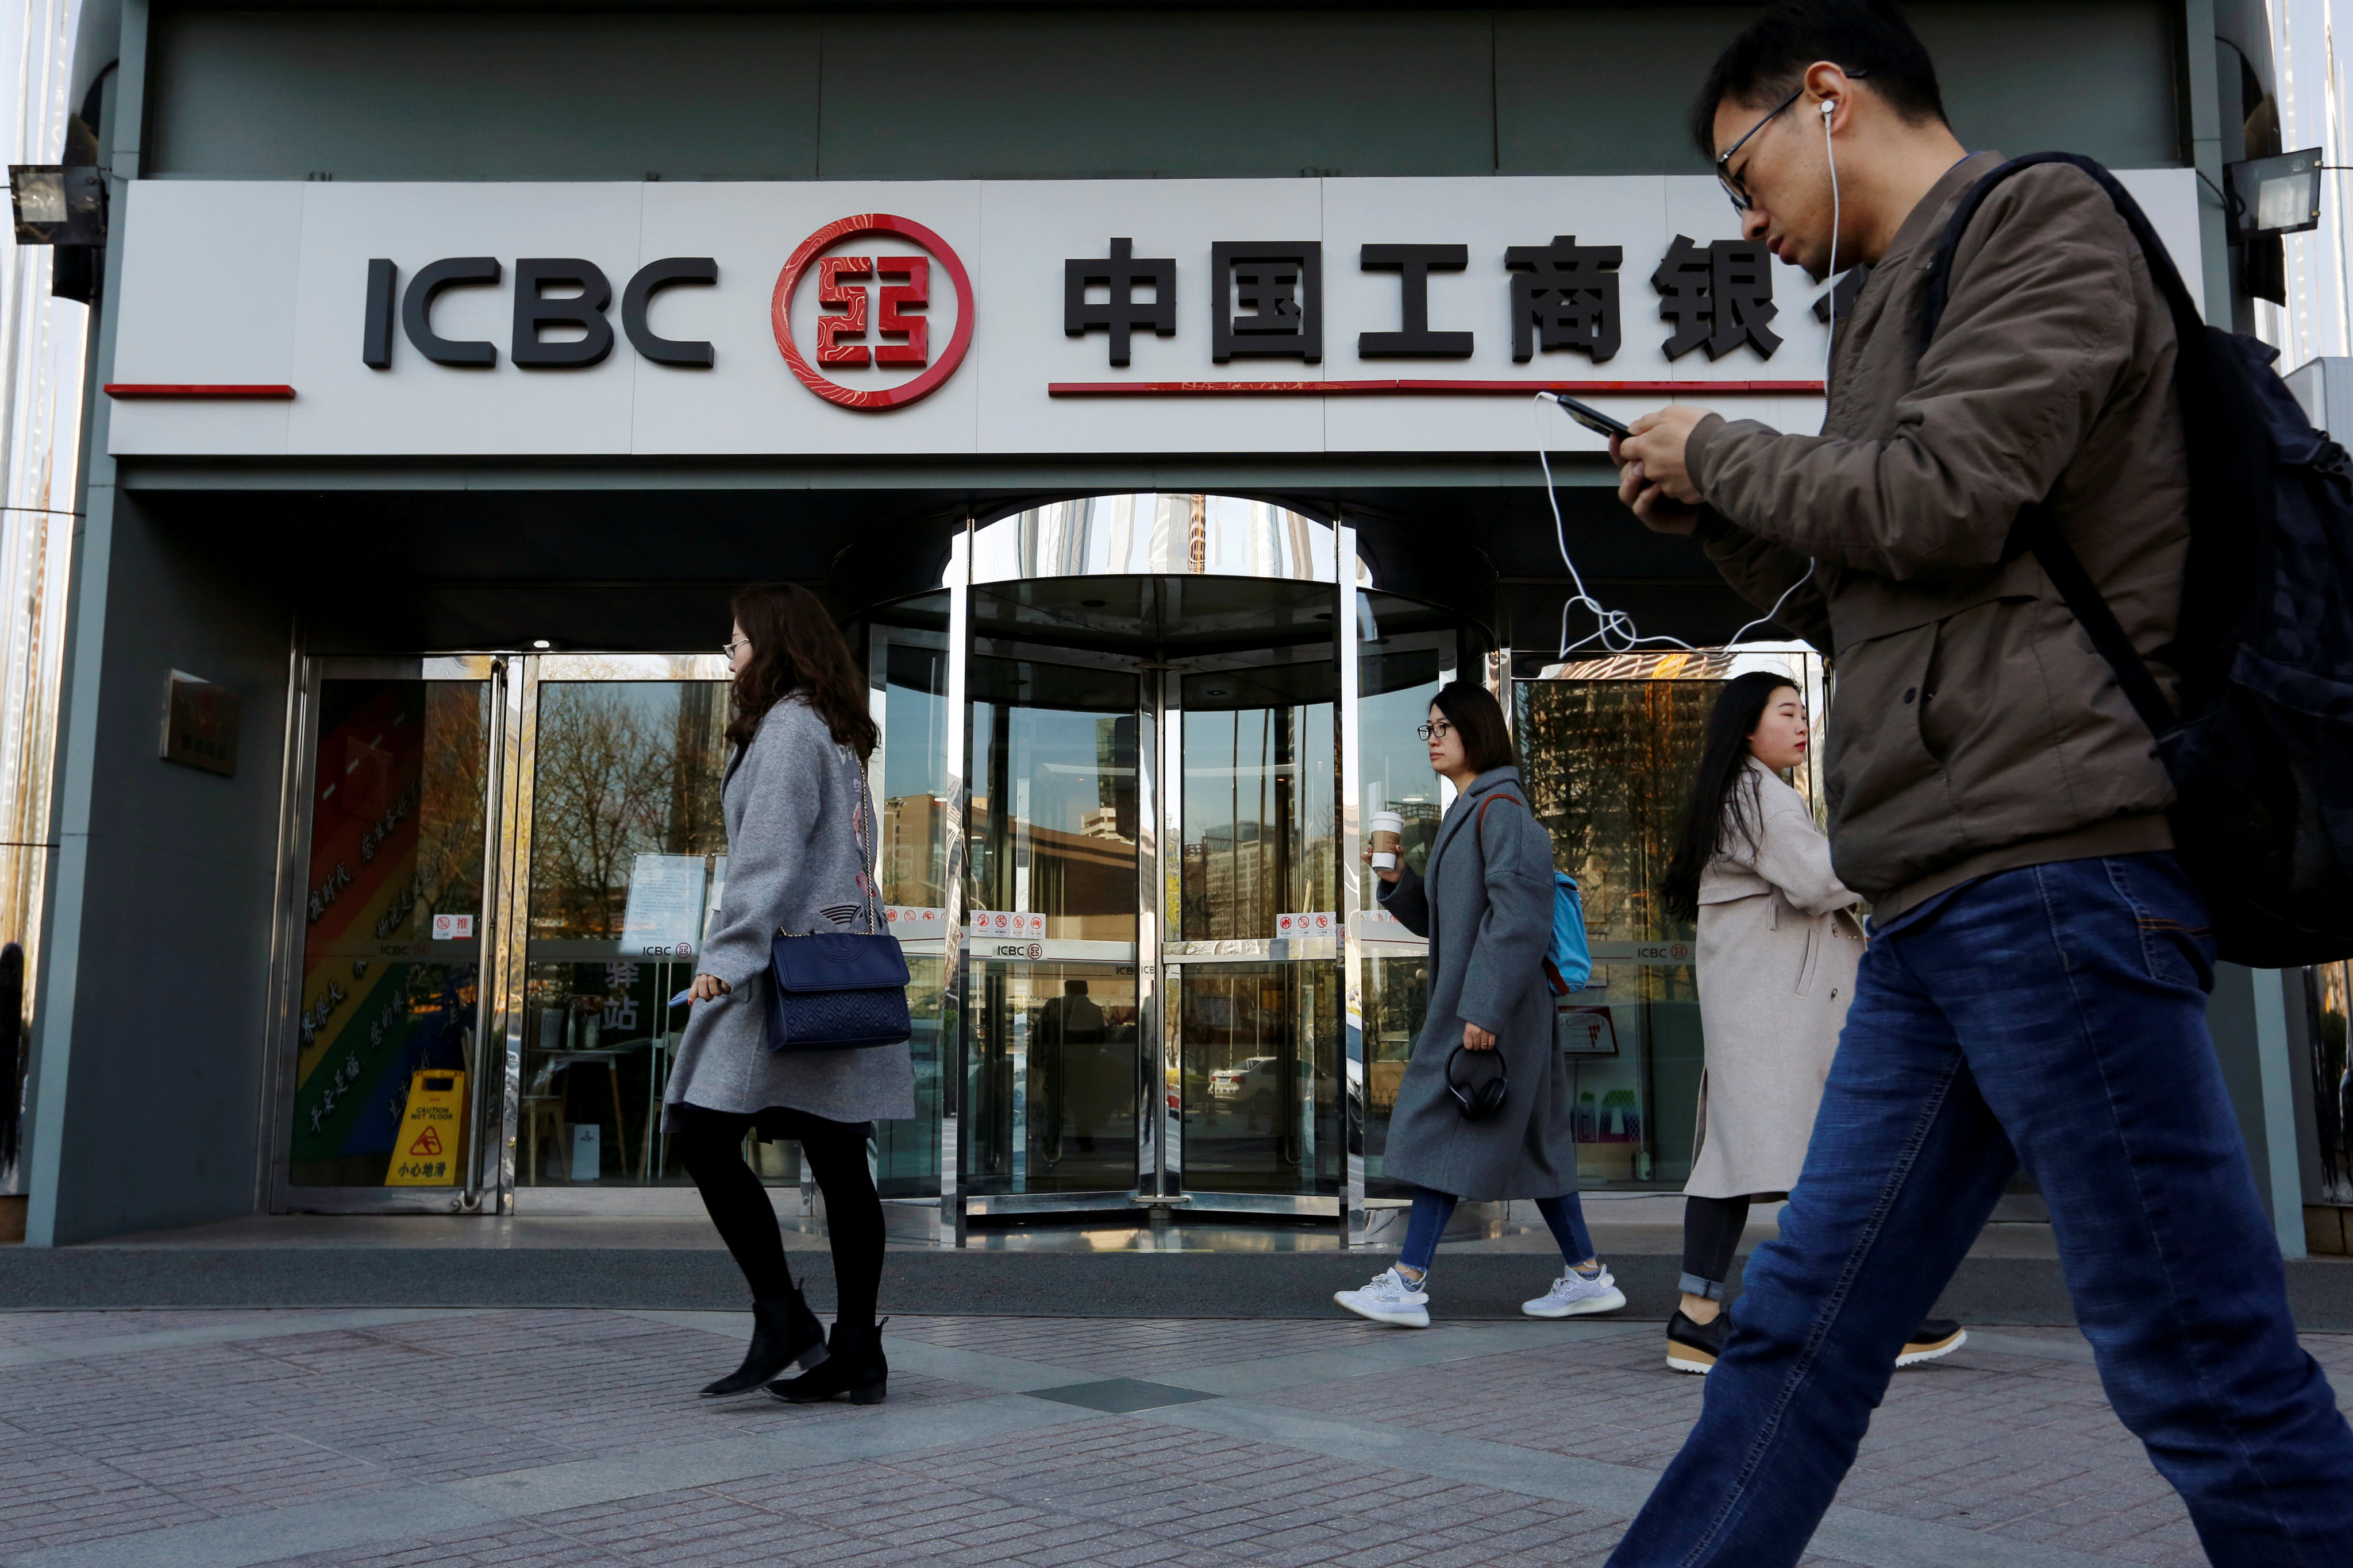
[[(1572, 350), (1595, 364), (1624, 343), (1619, 306), (1619, 244), (1579, 244), (1577, 235), (1553, 235), (1548, 244), (1504, 247), (1511, 357), (1534, 360)], [(828, 259), (866, 266), (856, 256)], [(1398, 275), (1398, 324), (1360, 331), (1362, 360), (1468, 360), (1475, 334), (1431, 327), (1431, 273), (1471, 266), (1466, 244), (1365, 244), (1358, 266)], [(831, 273), (826, 275), (831, 287)], [(1661, 343), (1668, 360), (1706, 348), (1720, 360), (1741, 343), (1769, 360), (1781, 348), (1772, 331), (1779, 306), (1772, 299), (1772, 256), (1751, 240), (1699, 244), (1675, 235), (1649, 277), (1659, 292), (1659, 320), (1673, 331)], [(1104, 299), (1089, 299), (1101, 289)], [(831, 299), (826, 294), (824, 299)], [(840, 331), (864, 331), (864, 294), (852, 301)], [(1217, 240), (1209, 244), (1209, 357), (1287, 357), (1318, 364), (1325, 336), (1320, 240)], [(1136, 331), (1176, 334), (1176, 261), (1144, 259), (1134, 240), (1111, 240), (1106, 256), (1073, 256), (1061, 263), (1061, 329), (1082, 339), (1106, 334), (1108, 360), (1129, 362)], [(821, 329), (824, 331), (824, 329)], [(831, 353), (826, 339), (819, 357)], [(920, 339), (918, 339), (920, 343)], [(864, 353), (864, 350), (856, 350)], [(880, 360), (882, 353), (878, 350)], [(864, 360), (861, 360), (864, 362)]]

